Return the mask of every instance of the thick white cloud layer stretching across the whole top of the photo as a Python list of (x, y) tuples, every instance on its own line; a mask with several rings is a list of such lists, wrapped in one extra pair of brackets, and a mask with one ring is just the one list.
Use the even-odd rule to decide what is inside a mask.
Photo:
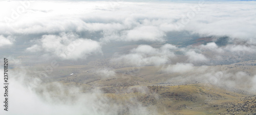
[[(19, 5), (18, 2), (12, 1)], [(17, 5), (1, 2), (0, 34), (53, 34), (61, 32), (98, 32), (102, 39), (125, 41), (163, 41), (166, 32), (189, 31), (204, 36), (229, 36), (230, 38), (255, 38), (255, 2), (214, 3), (205, 2), (204, 7), (195, 12), (198, 2), (133, 3), (117, 2), (71, 2), (35, 1), (13, 22), (6, 24), (4, 17), (11, 18), (11, 9)], [(119, 4), (120, 3), (120, 4)], [(230, 6), (232, 4), (232, 6)], [(58, 6), (58, 7), (56, 7)], [(229, 6), (229, 9), (226, 9)], [(239, 9), (237, 9), (239, 8)], [(195, 16), (177, 30), (175, 24), (186, 18), (188, 12)], [(114, 35), (112, 35), (112, 34)], [(112, 36), (116, 36), (112, 38)], [(256, 41), (253, 39), (253, 43)]]

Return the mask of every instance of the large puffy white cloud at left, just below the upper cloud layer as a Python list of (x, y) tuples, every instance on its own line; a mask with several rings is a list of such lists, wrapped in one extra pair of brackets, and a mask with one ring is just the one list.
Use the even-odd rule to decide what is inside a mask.
[(27, 48), (27, 51), (44, 51), (61, 59), (86, 59), (93, 53), (101, 53), (101, 45), (91, 39), (81, 39), (74, 34), (44, 35), (37, 44)]

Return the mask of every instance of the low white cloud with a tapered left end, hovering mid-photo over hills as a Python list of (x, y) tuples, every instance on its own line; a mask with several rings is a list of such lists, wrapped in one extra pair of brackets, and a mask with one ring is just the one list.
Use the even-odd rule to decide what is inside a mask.
[(129, 54), (121, 55), (114, 59), (126, 64), (136, 66), (162, 65), (170, 63), (170, 58), (175, 57), (176, 46), (165, 44), (160, 48), (153, 48), (150, 45), (139, 45), (131, 50)]

